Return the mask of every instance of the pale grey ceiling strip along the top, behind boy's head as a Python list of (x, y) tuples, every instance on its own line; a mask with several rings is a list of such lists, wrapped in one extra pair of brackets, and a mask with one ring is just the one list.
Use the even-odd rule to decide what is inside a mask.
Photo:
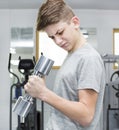
[[(0, 0), (0, 9), (37, 9), (46, 0)], [(73, 9), (119, 10), (119, 0), (65, 0)]]

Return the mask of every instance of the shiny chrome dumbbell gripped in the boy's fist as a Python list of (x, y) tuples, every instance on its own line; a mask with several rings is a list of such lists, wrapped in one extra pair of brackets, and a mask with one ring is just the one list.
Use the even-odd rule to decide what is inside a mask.
[[(41, 78), (44, 77), (45, 75), (48, 75), (53, 64), (54, 64), (53, 60), (41, 55), (40, 59), (38, 60), (38, 62), (34, 67), (33, 75), (38, 75)], [(34, 98), (32, 98), (28, 94), (25, 94), (24, 96), (20, 96), (18, 98), (12, 111), (18, 114), (20, 117), (25, 118), (33, 106), (34, 106)]]

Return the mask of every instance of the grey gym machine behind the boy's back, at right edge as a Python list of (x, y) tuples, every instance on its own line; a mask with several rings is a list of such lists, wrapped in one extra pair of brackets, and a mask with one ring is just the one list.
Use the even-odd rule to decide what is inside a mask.
[[(107, 130), (119, 130), (119, 70), (110, 73), (110, 64), (119, 62), (119, 55), (107, 54), (102, 57), (104, 64), (108, 64), (108, 81), (106, 83), (106, 91), (108, 95), (108, 107), (107, 107)], [(107, 96), (106, 95), (106, 96)]]

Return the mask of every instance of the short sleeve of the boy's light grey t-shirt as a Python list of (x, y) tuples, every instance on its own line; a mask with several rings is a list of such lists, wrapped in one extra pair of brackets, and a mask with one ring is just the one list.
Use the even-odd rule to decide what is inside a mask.
[(78, 67), (78, 89), (100, 90), (102, 60), (99, 56), (85, 56)]

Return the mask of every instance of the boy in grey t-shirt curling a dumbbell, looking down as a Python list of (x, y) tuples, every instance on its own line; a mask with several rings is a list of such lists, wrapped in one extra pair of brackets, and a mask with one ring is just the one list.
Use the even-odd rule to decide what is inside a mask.
[(46, 130), (101, 130), (103, 61), (79, 26), (79, 18), (63, 0), (47, 0), (39, 10), (37, 30), (68, 52), (53, 91), (38, 76), (31, 76), (25, 85), (32, 97), (53, 107)]

